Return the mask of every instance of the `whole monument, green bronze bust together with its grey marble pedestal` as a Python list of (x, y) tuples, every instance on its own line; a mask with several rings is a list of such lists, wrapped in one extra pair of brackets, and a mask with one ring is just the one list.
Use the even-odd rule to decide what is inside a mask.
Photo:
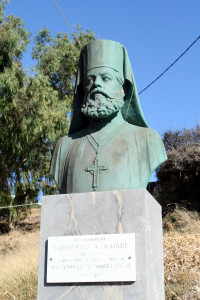
[(92, 41), (80, 55), (69, 135), (51, 162), (64, 195), (42, 201), (39, 300), (164, 299), (161, 208), (145, 188), (165, 160), (126, 49)]

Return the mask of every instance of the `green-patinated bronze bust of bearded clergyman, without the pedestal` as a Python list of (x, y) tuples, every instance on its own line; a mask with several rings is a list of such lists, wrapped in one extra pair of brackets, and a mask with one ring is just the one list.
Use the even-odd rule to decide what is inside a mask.
[(146, 188), (166, 159), (143, 116), (126, 49), (92, 41), (80, 55), (69, 135), (58, 140), (51, 162), (59, 192)]

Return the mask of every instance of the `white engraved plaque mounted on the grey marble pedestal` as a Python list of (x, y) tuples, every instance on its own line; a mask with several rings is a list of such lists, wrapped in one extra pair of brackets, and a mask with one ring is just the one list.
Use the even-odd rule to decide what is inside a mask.
[(47, 283), (135, 280), (134, 233), (48, 238)]

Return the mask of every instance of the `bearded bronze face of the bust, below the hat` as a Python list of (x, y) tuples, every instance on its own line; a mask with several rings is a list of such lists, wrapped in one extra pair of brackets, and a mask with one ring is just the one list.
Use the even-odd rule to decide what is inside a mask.
[(90, 70), (84, 82), (85, 98), (81, 112), (91, 118), (107, 118), (124, 104), (122, 82), (113, 69), (101, 67)]

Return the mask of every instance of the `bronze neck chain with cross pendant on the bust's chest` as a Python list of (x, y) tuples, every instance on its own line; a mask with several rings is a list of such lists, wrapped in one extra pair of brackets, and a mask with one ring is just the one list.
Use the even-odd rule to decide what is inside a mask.
[(126, 122), (121, 123), (119, 126), (117, 126), (104, 140), (103, 140), (103, 133), (100, 134), (100, 138), (97, 141), (95, 137), (91, 134), (89, 128), (88, 128), (88, 135), (87, 139), (92, 148), (95, 150), (96, 155), (94, 157), (93, 165), (86, 168), (86, 172), (90, 172), (90, 174), (93, 176), (93, 181), (92, 181), (92, 188), (94, 191), (97, 190), (99, 186), (99, 175), (101, 174), (102, 171), (108, 170), (108, 168), (105, 165), (101, 165), (100, 163), (100, 152), (101, 149), (104, 147), (104, 145), (108, 142), (111, 141), (115, 133), (125, 125)]

